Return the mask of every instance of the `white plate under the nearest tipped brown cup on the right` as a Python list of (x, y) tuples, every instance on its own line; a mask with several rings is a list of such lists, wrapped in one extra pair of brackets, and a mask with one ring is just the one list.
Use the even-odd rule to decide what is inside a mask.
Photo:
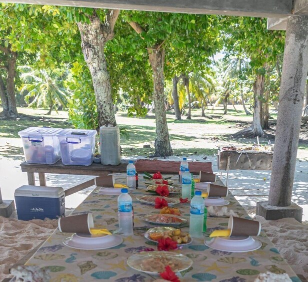
[(262, 244), (260, 241), (249, 237), (215, 237), (204, 240), (204, 244), (214, 250), (232, 253), (251, 252), (259, 249)]

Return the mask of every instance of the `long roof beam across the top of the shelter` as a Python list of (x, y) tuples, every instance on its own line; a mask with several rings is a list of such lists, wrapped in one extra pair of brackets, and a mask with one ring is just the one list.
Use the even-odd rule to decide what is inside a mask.
[(1, 2), (256, 17), (283, 17), (290, 14), (292, 8), (292, 0), (1, 0)]

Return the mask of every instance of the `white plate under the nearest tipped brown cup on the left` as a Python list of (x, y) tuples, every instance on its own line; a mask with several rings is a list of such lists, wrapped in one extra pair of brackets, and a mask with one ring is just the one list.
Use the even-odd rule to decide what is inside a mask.
[(66, 247), (80, 250), (102, 250), (120, 245), (122, 237), (118, 235), (87, 235), (74, 233), (63, 240)]

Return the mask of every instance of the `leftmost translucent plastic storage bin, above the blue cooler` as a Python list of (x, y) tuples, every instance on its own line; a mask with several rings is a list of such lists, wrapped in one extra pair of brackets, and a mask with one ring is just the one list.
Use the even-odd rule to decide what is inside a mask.
[(56, 134), (62, 128), (29, 127), (18, 132), (25, 161), (30, 164), (54, 164), (60, 158)]

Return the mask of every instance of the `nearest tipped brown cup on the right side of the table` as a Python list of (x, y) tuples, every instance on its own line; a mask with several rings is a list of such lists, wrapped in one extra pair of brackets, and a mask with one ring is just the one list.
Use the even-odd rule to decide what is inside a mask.
[(230, 236), (258, 236), (261, 224), (258, 221), (230, 216), (228, 229)]

